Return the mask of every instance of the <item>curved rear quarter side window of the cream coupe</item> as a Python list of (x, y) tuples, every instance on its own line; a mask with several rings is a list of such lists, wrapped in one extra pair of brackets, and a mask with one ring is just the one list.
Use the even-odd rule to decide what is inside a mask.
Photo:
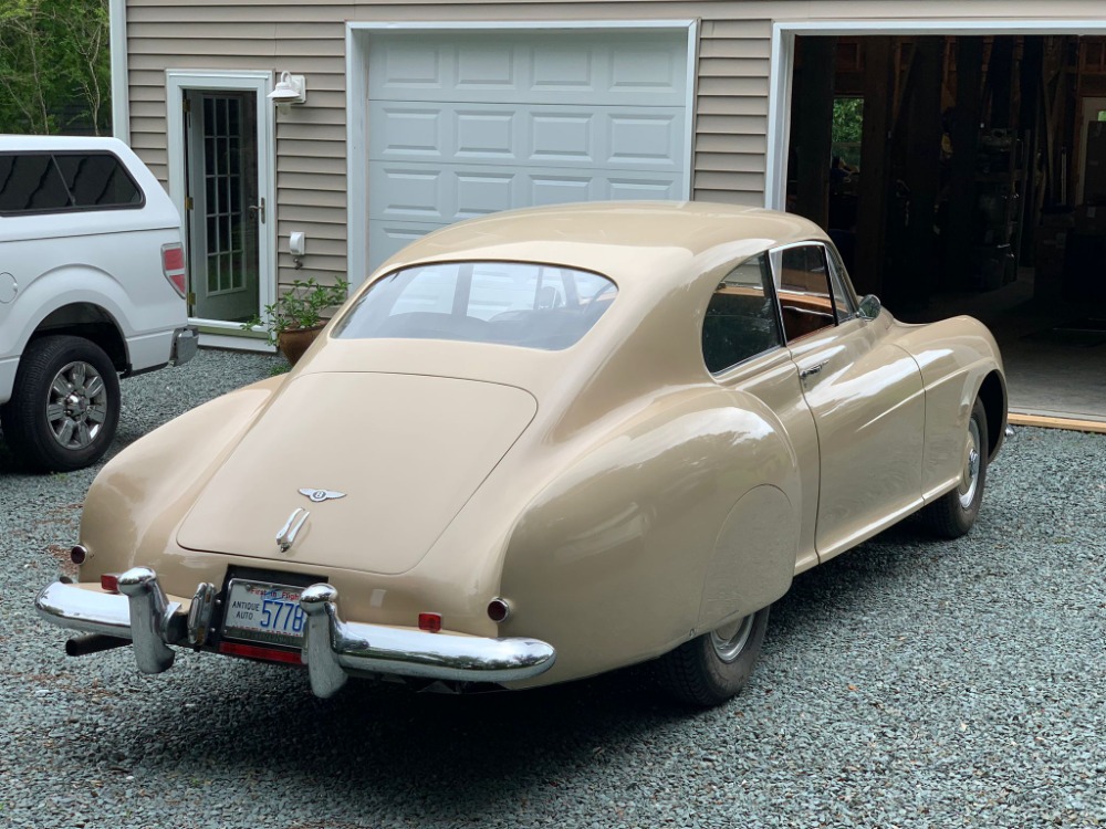
[(711, 374), (782, 344), (771, 279), (761, 253), (730, 271), (714, 288), (702, 321), (702, 359)]

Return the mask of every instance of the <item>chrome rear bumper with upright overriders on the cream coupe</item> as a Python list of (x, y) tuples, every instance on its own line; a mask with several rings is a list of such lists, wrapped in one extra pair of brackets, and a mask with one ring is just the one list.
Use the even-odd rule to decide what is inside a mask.
[[(54, 581), (34, 607), (53, 625), (107, 638), (83, 652), (129, 639), (138, 670), (161, 673), (176, 655), (169, 646), (199, 648), (208, 639), (213, 598), (215, 588), (201, 584), (185, 612), (180, 602), (168, 599), (154, 570), (135, 567), (119, 576), (118, 594)], [(300, 606), (307, 617), (301, 658), (311, 675), (311, 690), (322, 697), (332, 696), (357, 674), (500, 683), (544, 673), (556, 659), (553, 647), (536, 639), (431, 633), (343, 621), (338, 592), (327, 584), (306, 588)]]

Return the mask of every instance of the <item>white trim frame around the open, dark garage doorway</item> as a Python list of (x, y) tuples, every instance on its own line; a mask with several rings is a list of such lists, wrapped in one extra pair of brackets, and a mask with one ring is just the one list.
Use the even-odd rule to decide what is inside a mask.
[(768, 154), (764, 159), (764, 207), (783, 210), (787, 199), (787, 145), (791, 140), (791, 91), (799, 34), (1106, 34), (1097, 20), (810, 20), (772, 24), (769, 71)]

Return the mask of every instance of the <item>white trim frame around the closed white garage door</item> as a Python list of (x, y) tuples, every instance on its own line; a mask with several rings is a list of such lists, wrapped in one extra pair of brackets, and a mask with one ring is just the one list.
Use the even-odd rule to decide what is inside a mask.
[(697, 65), (699, 44), (698, 20), (531, 20), (488, 22), (347, 22), (346, 23), (346, 263), (351, 286), (361, 284), (369, 276), (368, 264), (368, 160), (365, 139), (367, 137), (368, 102), (368, 50), (373, 34), (387, 32), (434, 31), (434, 32), (549, 32), (609, 30), (633, 31), (686, 31), (687, 32), (687, 99), (685, 107), (685, 166), (682, 197), (691, 198), (695, 175), (695, 101), (697, 94)]

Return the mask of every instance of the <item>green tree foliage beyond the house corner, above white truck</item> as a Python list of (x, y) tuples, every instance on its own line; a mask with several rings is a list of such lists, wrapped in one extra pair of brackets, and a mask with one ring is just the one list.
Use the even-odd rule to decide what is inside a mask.
[(0, 0), (0, 133), (111, 134), (108, 0)]

